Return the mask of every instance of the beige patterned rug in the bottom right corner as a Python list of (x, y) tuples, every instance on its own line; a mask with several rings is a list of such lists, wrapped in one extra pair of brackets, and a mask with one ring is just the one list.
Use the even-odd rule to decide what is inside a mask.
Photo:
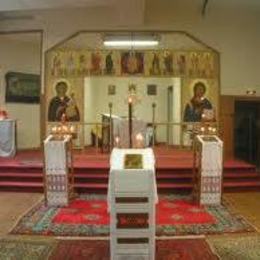
[(220, 259), (259, 260), (260, 236), (221, 236), (208, 238), (211, 248)]

